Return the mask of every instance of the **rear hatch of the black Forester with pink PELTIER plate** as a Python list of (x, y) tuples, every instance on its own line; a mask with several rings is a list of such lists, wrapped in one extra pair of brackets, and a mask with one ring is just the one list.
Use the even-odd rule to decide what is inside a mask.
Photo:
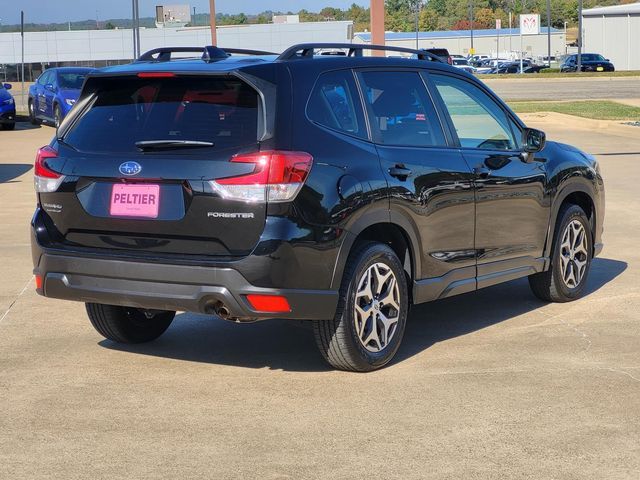
[(255, 168), (230, 161), (259, 150), (264, 107), (252, 86), (229, 74), (148, 73), (89, 78), (87, 90), (48, 160), (64, 182), (40, 193), (60, 242), (151, 254), (253, 250), (266, 202), (227, 198), (211, 182)]

